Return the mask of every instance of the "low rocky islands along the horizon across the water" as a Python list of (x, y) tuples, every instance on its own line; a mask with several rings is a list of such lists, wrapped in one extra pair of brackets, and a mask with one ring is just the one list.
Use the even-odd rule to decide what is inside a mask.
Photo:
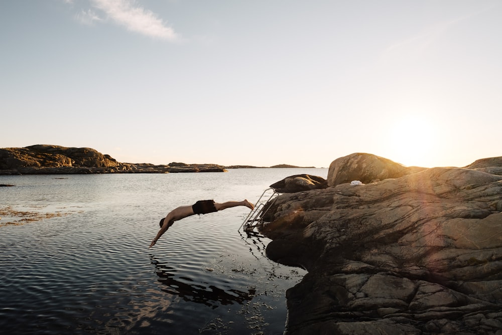
[[(275, 165), (271, 168), (298, 167)], [(226, 169), (258, 168), (257, 166), (218, 164), (166, 165), (149, 163), (120, 163), (110, 155), (92, 148), (73, 148), (56, 145), (33, 145), (24, 148), (0, 149), (0, 175), (18, 174), (94, 174), (94, 173), (182, 173), (225, 172)]]

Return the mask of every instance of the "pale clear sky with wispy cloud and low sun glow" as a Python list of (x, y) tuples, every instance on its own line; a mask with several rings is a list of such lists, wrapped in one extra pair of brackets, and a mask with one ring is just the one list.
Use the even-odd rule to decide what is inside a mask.
[(0, 148), (119, 162), (502, 156), (499, 0), (0, 0)]

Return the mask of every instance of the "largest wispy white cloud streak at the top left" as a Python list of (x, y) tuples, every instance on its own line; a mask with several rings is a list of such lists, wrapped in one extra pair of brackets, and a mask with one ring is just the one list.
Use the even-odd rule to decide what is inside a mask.
[(129, 31), (168, 41), (179, 40), (171, 27), (166, 26), (152, 11), (137, 5), (134, 0), (92, 0), (92, 4)]

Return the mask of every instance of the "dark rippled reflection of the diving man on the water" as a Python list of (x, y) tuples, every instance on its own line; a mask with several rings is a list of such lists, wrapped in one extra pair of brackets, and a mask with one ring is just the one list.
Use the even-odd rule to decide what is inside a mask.
[(243, 304), (245, 301), (252, 300), (256, 295), (255, 289), (248, 289), (247, 292), (232, 289), (230, 286), (223, 289), (206, 282), (196, 283), (187, 277), (177, 277), (175, 268), (160, 263), (152, 255), (150, 255), (150, 259), (158, 270), (159, 282), (166, 286), (162, 291), (177, 295), (185, 301), (201, 303), (214, 309), (218, 307), (218, 304)]

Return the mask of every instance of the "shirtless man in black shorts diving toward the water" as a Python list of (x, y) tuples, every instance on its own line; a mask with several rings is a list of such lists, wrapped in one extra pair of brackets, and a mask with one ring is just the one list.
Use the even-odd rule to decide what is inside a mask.
[(180, 206), (178, 208), (175, 208), (171, 212), (169, 212), (169, 214), (167, 214), (166, 217), (163, 217), (160, 220), (159, 222), (160, 231), (159, 233), (157, 233), (157, 236), (155, 237), (155, 239), (150, 244), (150, 247), (148, 248), (152, 248), (155, 245), (155, 243), (157, 243), (162, 234), (164, 234), (169, 229), (169, 227), (171, 227), (174, 224), (174, 221), (181, 220), (182, 218), (194, 214), (207, 214), (236, 206), (246, 206), (250, 209), (255, 208), (255, 205), (253, 205), (252, 203), (250, 203), (245, 199), (242, 201), (227, 201), (223, 203), (217, 203), (214, 202), (214, 200), (199, 200), (191, 206)]

